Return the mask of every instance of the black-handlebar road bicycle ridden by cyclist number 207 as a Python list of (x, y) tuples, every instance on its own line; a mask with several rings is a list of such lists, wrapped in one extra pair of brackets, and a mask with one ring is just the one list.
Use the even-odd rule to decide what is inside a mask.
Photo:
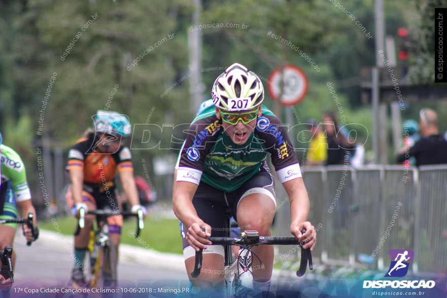
[[(305, 233), (305, 229), (301, 233)], [(225, 289), (228, 297), (244, 296), (252, 290), (253, 272), (252, 272), (252, 255), (251, 248), (256, 245), (297, 245), (301, 248), (301, 262), (297, 271), (297, 276), (301, 277), (305, 274), (307, 263), (309, 269), (313, 269), (312, 254), (310, 249), (303, 249), (304, 243), (295, 237), (262, 237), (258, 231), (246, 230), (240, 234), (240, 237), (210, 237), (208, 238), (213, 245), (225, 246)], [(232, 260), (231, 246), (240, 247), (237, 260)], [(197, 278), (202, 271), (203, 249), (196, 251), (196, 260), (194, 271), (191, 277)], [(258, 256), (256, 256), (258, 257)], [(259, 259), (259, 257), (258, 257)], [(261, 260), (260, 260), (261, 261)], [(262, 266), (262, 261), (261, 261)]]

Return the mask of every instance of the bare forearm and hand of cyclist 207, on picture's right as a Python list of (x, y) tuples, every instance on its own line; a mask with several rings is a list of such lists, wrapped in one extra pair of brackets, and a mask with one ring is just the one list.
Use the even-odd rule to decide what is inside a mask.
[[(307, 221), (310, 204), (303, 178), (295, 178), (282, 183), (282, 185), (290, 198), (291, 233), (298, 240), (306, 242), (303, 248), (310, 247), (312, 250), (316, 242), (316, 233), (315, 227)], [(306, 228), (306, 233), (301, 234), (303, 228)]]

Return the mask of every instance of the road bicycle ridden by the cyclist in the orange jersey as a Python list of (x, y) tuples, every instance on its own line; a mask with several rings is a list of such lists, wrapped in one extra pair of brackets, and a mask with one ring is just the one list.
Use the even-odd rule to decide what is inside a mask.
[[(111, 210), (90, 210), (85, 212), (84, 208), (79, 210), (78, 225), (80, 228), (85, 226), (85, 214), (96, 215), (96, 226), (90, 231), (90, 241), (88, 243), (89, 269), (91, 288), (110, 287), (115, 288), (117, 283), (117, 248), (109, 237), (109, 223), (107, 218), (114, 215), (122, 215), (123, 217), (137, 217), (137, 232), (134, 238), (140, 235), (140, 230), (144, 228), (143, 211), (138, 213), (131, 212), (115, 212)], [(79, 233), (79, 229), (76, 234)], [(79, 285), (74, 284), (75, 287)]]

